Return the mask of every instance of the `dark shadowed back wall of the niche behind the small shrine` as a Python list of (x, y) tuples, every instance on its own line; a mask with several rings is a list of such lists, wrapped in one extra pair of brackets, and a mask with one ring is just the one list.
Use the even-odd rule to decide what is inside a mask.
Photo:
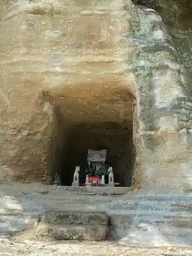
[[(80, 166), (80, 183), (85, 182), (87, 167), (87, 150), (107, 151), (106, 164), (113, 166), (114, 179), (121, 186), (133, 184), (133, 170), (135, 159), (135, 147), (132, 135), (132, 123), (82, 123), (68, 131), (67, 143), (62, 152), (63, 164), (60, 172), (63, 184), (71, 185), (75, 166)], [(52, 154), (54, 156), (54, 154)], [(58, 168), (59, 169), (59, 168)], [(108, 177), (105, 177), (106, 181)]]

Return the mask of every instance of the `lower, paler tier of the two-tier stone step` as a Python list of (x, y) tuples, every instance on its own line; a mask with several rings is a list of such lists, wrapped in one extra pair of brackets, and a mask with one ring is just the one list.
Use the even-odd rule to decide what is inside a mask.
[(108, 227), (104, 225), (52, 225), (40, 224), (36, 235), (55, 240), (88, 240), (103, 241), (106, 239)]

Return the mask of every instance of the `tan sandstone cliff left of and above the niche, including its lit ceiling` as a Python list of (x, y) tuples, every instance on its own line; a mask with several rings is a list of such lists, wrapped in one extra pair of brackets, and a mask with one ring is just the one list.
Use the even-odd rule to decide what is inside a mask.
[(53, 154), (50, 168), (58, 168), (65, 129), (132, 119), (135, 81), (124, 70), (134, 50), (118, 38), (130, 30), (129, 12), (99, 1), (2, 7), (1, 163), (32, 179), (45, 173)]

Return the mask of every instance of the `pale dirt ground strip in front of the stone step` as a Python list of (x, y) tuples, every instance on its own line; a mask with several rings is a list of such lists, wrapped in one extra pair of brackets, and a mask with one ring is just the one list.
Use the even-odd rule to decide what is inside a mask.
[(1, 239), (1, 255), (192, 255), (189, 248), (140, 247), (109, 242), (50, 242), (32, 241), (13, 242)]

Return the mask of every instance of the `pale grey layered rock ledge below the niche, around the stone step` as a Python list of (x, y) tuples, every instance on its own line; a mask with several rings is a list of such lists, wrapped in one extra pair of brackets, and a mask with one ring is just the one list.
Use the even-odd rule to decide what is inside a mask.
[[(35, 223), (39, 216), (43, 217), (45, 211), (52, 212), (53, 208), (57, 208), (60, 212), (63, 209), (73, 212), (87, 211), (88, 215), (92, 211), (107, 212), (110, 216), (107, 238), (115, 240), (112, 244), (117, 244), (120, 240), (124, 241), (125, 245), (131, 243), (135, 246), (192, 246), (189, 191), (181, 194), (178, 190), (178, 194), (170, 195), (169, 189), (163, 189), (159, 190), (161, 195), (152, 195), (145, 194), (146, 190), (143, 190), (140, 193), (130, 192), (118, 198), (97, 195), (88, 198), (83, 194), (77, 196), (55, 187), (49, 187), (49, 194), (42, 195), (35, 193), (33, 186), (18, 186), (18, 183), (0, 186), (1, 236), (6, 234), (10, 237), (10, 234), (14, 234), (13, 241), (20, 241), (20, 244), (26, 246), (30, 241), (36, 244)], [(22, 191), (27, 193), (23, 194)], [(41, 224), (45, 223), (39, 222), (37, 226)], [(62, 227), (56, 222), (55, 225)], [(49, 242), (46, 243), (46, 247), (47, 244)], [(57, 245), (59, 246), (59, 243)], [(84, 248), (86, 249), (87, 247)]]

